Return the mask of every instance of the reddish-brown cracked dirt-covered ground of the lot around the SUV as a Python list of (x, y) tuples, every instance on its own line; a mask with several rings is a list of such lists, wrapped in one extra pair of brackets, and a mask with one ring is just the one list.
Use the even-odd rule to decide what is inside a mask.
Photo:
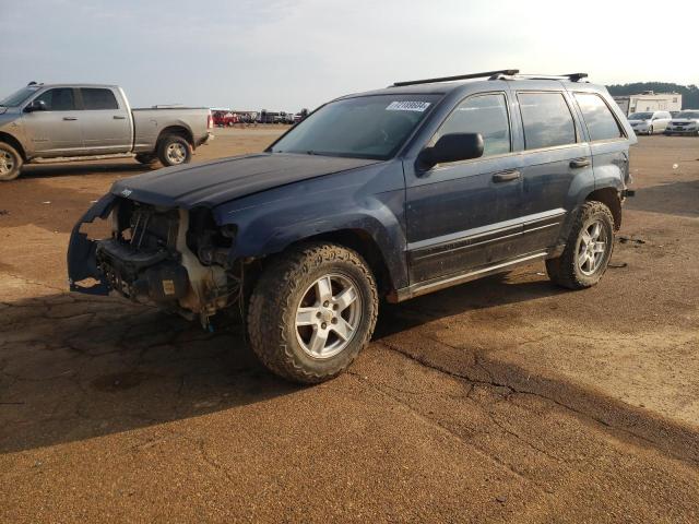
[(143, 168), (28, 167), (0, 186), (0, 522), (699, 522), (699, 139), (631, 167), (599, 286), (536, 264), (387, 306), (313, 388), (236, 332), (68, 294), (70, 229)]

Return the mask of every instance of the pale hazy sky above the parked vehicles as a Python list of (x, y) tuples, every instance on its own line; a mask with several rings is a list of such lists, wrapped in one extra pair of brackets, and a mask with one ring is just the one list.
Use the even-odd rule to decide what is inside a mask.
[(0, 98), (87, 82), (135, 107), (298, 111), (497, 69), (699, 84), (697, 21), (699, 0), (0, 0)]

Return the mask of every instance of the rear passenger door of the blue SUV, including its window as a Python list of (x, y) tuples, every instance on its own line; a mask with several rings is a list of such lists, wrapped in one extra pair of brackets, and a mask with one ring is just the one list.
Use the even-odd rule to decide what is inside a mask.
[(561, 91), (518, 91), (524, 139), (522, 170), (522, 253), (559, 243), (566, 214), (580, 187), (592, 187), (590, 146)]

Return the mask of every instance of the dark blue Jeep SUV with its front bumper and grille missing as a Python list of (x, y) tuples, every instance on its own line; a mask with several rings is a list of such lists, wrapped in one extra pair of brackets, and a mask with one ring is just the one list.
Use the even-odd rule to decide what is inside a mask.
[[(592, 286), (636, 135), (585, 76), (399, 82), (321, 106), (263, 153), (119, 180), (73, 229), (71, 289), (204, 326), (242, 312), (269, 369), (315, 383), (368, 344), (381, 299), (537, 260)], [(109, 238), (81, 230), (96, 218)]]

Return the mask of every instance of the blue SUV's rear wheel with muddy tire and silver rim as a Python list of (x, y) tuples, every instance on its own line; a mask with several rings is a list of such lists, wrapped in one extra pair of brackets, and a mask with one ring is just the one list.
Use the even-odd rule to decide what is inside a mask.
[(562, 254), (546, 261), (548, 277), (569, 289), (594, 286), (614, 250), (614, 218), (602, 202), (585, 202), (578, 212)]

